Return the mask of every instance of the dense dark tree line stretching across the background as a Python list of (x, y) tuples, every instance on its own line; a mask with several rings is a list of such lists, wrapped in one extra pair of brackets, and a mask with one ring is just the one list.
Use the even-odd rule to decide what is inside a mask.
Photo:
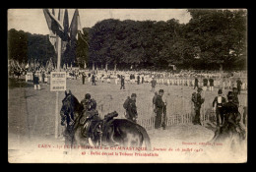
[[(67, 45), (64, 63), (92, 68), (224, 70), (246, 69), (247, 13), (244, 10), (188, 10), (191, 20), (103, 20), (84, 28), (75, 44)], [(37, 58), (43, 64), (56, 53), (46, 35), (9, 30), (9, 57)], [(89, 46), (88, 46), (89, 45)], [(55, 60), (56, 61), (56, 60)]]

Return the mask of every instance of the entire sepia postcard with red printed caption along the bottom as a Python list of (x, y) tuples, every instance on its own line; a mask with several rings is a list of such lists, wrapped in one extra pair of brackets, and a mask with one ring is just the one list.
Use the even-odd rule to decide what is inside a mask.
[(246, 163), (246, 9), (9, 9), (9, 163)]

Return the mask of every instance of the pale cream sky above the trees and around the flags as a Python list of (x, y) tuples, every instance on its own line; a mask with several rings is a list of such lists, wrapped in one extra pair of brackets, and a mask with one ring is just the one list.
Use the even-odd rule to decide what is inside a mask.
[[(69, 23), (74, 12), (75, 9), (68, 9)], [(186, 9), (79, 9), (79, 14), (82, 28), (92, 28), (105, 19), (157, 22), (176, 19), (180, 24), (186, 24), (191, 19)], [(22, 29), (37, 34), (49, 33), (42, 9), (9, 9), (9, 29)]]

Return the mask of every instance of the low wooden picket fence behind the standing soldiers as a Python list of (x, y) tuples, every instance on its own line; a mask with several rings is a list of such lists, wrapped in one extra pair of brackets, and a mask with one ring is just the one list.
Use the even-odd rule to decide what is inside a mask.
[[(244, 95), (247, 96), (247, 95)], [(247, 99), (244, 97), (239, 97), (240, 101), (239, 112), (243, 115), (244, 107), (247, 107)], [(194, 118), (194, 105), (190, 99), (185, 99), (182, 97), (169, 97), (166, 99), (166, 126), (179, 125), (179, 124), (191, 124)], [(213, 120), (215, 112), (212, 110), (212, 99), (206, 99), (201, 107), (201, 124), (204, 126), (206, 123)], [(98, 104), (97, 110), (101, 118), (103, 115), (110, 113), (114, 110), (118, 112), (118, 117), (125, 118), (125, 110), (122, 103), (112, 104), (110, 101), (104, 104)], [(139, 118), (137, 123), (143, 126), (146, 130), (155, 129), (155, 113), (151, 104), (144, 104), (138, 106)]]

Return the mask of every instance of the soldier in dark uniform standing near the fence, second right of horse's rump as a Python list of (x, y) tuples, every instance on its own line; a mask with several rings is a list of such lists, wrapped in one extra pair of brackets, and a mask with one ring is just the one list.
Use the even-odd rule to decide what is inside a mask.
[(155, 120), (155, 129), (159, 129), (161, 125), (161, 116), (163, 113), (164, 102), (162, 101), (163, 89), (160, 89), (159, 95), (156, 98), (156, 120)]

